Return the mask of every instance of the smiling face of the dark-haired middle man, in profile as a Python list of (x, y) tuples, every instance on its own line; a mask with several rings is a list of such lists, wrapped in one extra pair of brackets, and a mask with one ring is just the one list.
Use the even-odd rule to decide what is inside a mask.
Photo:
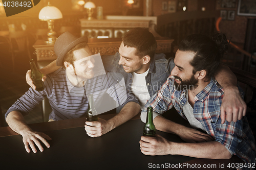
[(139, 57), (136, 55), (135, 47), (127, 47), (121, 43), (119, 47), (120, 59), (118, 64), (123, 66), (125, 72), (136, 72), (138, 74), (142, 74), (146, 70), (144, 70), (143, 60), (144, 57)]

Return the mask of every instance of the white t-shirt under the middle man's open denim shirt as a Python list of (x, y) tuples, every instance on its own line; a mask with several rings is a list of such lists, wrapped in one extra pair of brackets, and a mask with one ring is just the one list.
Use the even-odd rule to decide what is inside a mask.
[(150, 93), (148, 93), (146, 86), (146, 75), (150, 69), (142, 74), (137, 74), (133, 72), (133, 83), (132, 83), (132, 93), (136, 96), (140, 103), (140, 109), (142, 110), (145, 106), (145, 103), (150, 99)]

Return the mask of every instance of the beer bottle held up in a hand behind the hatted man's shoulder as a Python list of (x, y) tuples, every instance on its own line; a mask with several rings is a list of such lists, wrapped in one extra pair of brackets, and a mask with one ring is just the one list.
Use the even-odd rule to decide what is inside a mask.
[(35, 62), (33, 59), (31, 59), (30, 61), (30, 66), (31, 66), (31, 73), (30, 76), (33, 80), (33, 83), (35, 85), (35, 89), (37, 91), (42, 91), (45, 89), (45, 83), (42, 82), (42, 74), (40, 71), (37, 70), (37, 67), (35, 65)]

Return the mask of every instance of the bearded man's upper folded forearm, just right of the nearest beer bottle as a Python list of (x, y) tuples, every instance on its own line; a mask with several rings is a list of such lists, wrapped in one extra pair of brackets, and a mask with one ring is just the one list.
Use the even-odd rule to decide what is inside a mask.
[(168, 120), (161, 115), (156, 116), (153, 122), (157, 130), (167, 133), (174, 133), (176, 135), (182, 134), (186, 129), (185, 126), (177, 124), (172, 120)]

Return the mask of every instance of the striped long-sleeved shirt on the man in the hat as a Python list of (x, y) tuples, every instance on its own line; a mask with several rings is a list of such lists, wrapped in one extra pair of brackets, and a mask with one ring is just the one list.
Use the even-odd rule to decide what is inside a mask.
[(27, 115), (44, 98), (49, 99), (52, 107), (49, 119), (52, 118), (53, 120), (85, 116), (88, 109), (88, 98), (86, 94), (94, 95), (95, 107), (103, 106), (102, 103), (104, 104), (104, 101), (102, 101), (101, 97), (104, 94), (109, 94), (120, 106), (124, 106), (128, 102), (138, 103), (131, 93), (126, 93), (125, 87), (121, 86), (111, 74), (104, 74), (89, 79), (83, 87), (74, 87), (66, 76), (66, 69), (60, 68), (52, 74), (47, 75), (45, 86), (46, 88), (42, 91), (29, 88), (9, 108), (5, 117), (14, 110)]

